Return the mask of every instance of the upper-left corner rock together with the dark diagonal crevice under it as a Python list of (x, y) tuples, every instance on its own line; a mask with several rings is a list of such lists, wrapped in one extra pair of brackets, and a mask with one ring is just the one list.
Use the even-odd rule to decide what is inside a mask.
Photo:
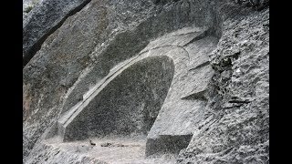
[[(26, 6), (28, 3), (31, 5)], [(47, 36), (53, 33), (68, 15), (75, 14), (87, 3), (89, 0), (26, 1), (25, 13), (27, 11), (29, 15), (24, 17), (23, 21), (23, 66), (26, 66)]]

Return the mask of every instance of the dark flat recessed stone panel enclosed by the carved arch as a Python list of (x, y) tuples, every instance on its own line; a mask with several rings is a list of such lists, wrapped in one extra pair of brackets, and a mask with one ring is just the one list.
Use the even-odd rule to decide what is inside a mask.
[(64, 127), (64, 141), (146, 136), (172, 84), (169, 56), (146, 57), (115, 77)]

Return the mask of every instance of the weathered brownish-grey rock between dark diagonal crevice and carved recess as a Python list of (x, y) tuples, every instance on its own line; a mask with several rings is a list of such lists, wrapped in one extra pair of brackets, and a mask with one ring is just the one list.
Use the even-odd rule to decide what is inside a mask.
[[(69, 16), (63, 26), (47, 37), (42, 48), (24, 67), (24, 136), (27, 139), (24, 142), (25, 157), (45, 129), (56, 121), (68, 88), (74, 85), (86, 67), (94, 64), (91, 56), (95, 55), (96, 51), (99, 52), (103, 47), (102, 43), (110, 42), (117, 33), (122, 32), (121, 29), (126, 24), (124, 17), (131, 16), (127, 22), (132, 22), (132, 26), (135, 26), (137, 22), (150, 16), (147, 13), (152, 6), (145, 2), (125, 1), (124, 4), (118, 5), (116, 3), (91, 1), (76, 15)], [(110, 6), (99, 8), (99, 5)], [(126, 6), (130, 6), (130, 13), (122, 15)], [(141, 8), (145, 11), (141, 11)], [(131, 15), (132, 13), (136, 16)], [(118, 15), (121, 15), (119, 19)], [(107, 70), (107, 67), (105, 69)], [(104, 75), (106, 74), (101, 73), (101, 76)], [(99, 79), (99, 76), (96, 77)], [(87, 86), (84, 87), (88, 89)]]

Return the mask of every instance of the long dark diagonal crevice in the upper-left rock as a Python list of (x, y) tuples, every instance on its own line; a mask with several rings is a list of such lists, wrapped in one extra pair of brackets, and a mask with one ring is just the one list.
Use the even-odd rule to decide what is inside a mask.
[(52, 26), (47, 33), (45, 33), (43, 36), (41, 36), (39, 39), (37, 39), (36, 43), (33, 44), (26, 52), (24, 52), (23, 55), (23, 68), (26, 67), (27, 63), (30, 61), (30, 59), (36, 55), (36, 52), (41, 48), (45, 40), (48, 36), (53, 34), (60, 26), (63, 25), (63, 23), (66, 21), (66, 19), (71, 16), (78, 13), (85, 5), (88, 5), (91, 0), (86, 0), (82, 4), (78, 5), (76, 8), (72, 9), (68, 12), (68, 15), (65, 15), (56, 26)]

